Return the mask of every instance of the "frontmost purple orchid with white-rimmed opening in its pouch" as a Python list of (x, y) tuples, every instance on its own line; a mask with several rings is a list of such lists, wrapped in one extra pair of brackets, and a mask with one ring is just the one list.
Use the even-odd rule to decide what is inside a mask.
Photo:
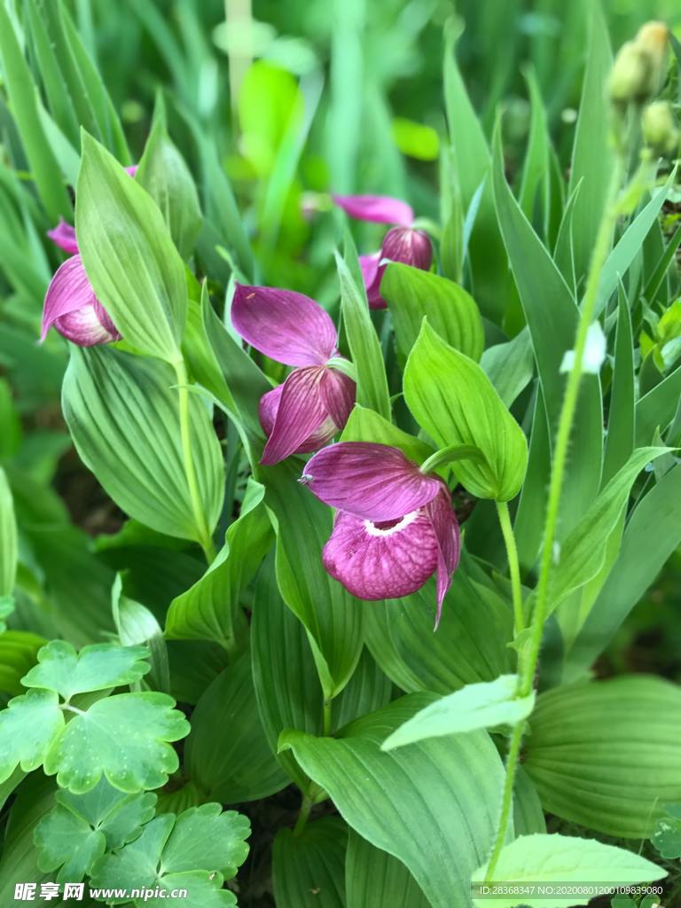
[(459, 565), (459, 522), (449, 489), (398, 448), (341, 441), (315, 454), (302, 482), (337, 508), (322, 559), (361, 599), (400, 598), (437, 573), (438, 610)]

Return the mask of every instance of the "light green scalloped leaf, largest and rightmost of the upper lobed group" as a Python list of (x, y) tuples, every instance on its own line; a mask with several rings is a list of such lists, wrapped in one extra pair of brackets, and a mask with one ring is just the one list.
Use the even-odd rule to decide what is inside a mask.
[(123, 792), (158, 788), (179, 765), (169, 744), (189, 734), (173, 697), (117, 694), (77, 711), (44, 759), (47, 775), (75, 794), (90, 791), (104, 774)]

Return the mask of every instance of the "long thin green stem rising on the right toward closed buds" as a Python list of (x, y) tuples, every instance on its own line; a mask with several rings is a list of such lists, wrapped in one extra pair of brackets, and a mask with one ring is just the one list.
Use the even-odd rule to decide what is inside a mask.
[[(584, 350), (587, 346), (587, 332), (593, 321), (596, 311), (598, 296), (598, 286), (600, 274), (603, 265), (607, 260), (607, 254), (610, 250), (612, 232), (617, 223), (619, 209), (617, 206), (617, 197), (619, 184), (622, 178), (622, 162), (619, 154), (616, 155), (616, 164), (613, 169), (607, 201), (598, 227), (594, 251), (591, 255), (589, 270), (587, 275), (587, 289), (584, 294), (581, 311), (579, 313), (579, 322), (577, 324), (577, 338), (575, 339), (575, 361), (572, 369), (568, 374), (568, 381), (565, 387), (563, 397), (563, 406), (560, 410), (558, 419), (558, 432), (556, 433), (556, 444), (553, 453), (553, 462), (551, 465), (551, 479), (548, 487), (548, 504), (547, 516), (544, 524), (544, 540), (541, 548), (541, 558), (539, 562), (539, 577), (537, 582), (537, 591), (535, 599), (534, 614), (532, 616), (532, 633), (529, 639), (527, 656), (522, 660), (520, 666), (520, 678), (518, 682), (518, 696), (529, 696), (534, 686), (535, 673), (539, 658), (539, 649), (544, 630), (544, 621), (546, 620), (548, 610), (548, 580), (551, 573), (551, 567), (554, 559), (554, 543), (556, 541), (556, 531), (558, 528), (558, 511), (560, 508), (560, 497), (563, 489), (563, 479), (565, 477), (565, 467), (568, 460), (568, 447), (572, 424), (577, 411), (577, 400), (579, 396), (579, 384), (582, 378), (582, 360), (584, 359)], [(636, 180), (636, 177), (635, 177)], [(634, 182), (634, 181), (632, 181)], [(627, 190), (625, 190), (626, 194)], [(508, 749), (508, 760), (506, 765), (506, 782), (504, 785), (504, 794), (501, 804), (501, 816), (497, 837), (492, 848), (492, 854), (489, 859), (485, 881), (493, 879), (493, 874), (498, 863), (498, 856), (506, 842), (508, 831), (508, 819), (510, 817), (511, 806), (513, 804), (513, 787), (515, 785), (516, 774), (518, 771), (518, 759), (520, 755), (520, 745), (525, 723), (521, 722), (513, 730), (513, 737)]]

